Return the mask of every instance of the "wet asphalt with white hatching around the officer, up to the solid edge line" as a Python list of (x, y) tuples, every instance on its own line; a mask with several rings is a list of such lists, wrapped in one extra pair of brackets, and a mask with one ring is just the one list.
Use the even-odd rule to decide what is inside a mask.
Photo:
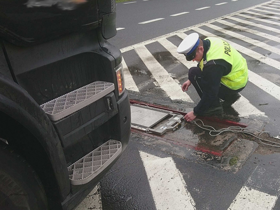
[[(280, 1), (267, 1), (122, 48), (130, 99), (191, 111), (199, 97), (181, 85), (197, 64), (176, 49), (193, 32), (219, 37), (246, 58), (249, 81), (240, 100), (216, 116), (221, 121), (202, 121), (217, 129), (230, 121), (268, 131), (260, 137), (280, 143), (279, 20)], [(132, 130), (127, 150), (77, 209), (280, 209), (280, 149), (269, 141), (262, 140), (273, 146), (243, 133), (210, 136), (184, 121), (161, 136)]]

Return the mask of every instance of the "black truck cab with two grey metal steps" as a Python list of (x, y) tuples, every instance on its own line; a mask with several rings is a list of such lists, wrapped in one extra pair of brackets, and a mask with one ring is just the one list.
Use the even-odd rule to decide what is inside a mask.
[(115, 0), (0, 2), (0, 209), (74, 209), (126, 148)]

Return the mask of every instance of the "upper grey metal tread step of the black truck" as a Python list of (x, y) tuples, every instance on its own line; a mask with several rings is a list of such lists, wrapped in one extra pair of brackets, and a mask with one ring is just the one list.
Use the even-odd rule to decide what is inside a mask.
[(50, 120), (60, 120), (115, 90), (113, 83), (97, 81), (41, 105)]

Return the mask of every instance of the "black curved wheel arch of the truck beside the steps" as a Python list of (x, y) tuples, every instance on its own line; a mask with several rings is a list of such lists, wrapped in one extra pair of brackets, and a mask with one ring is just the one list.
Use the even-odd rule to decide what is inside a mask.
[[(0, 118), (0, 138), (29, 161), (43, 184), (52, 180), (48, 183), (48, 188), (54, 190), (52, 200), (56, 205), (62, 202), (70, 192), (70, 181), (53, 124), (23, 88), (1, 74)], [(45, 189), (47, 195), (50, 189)]]

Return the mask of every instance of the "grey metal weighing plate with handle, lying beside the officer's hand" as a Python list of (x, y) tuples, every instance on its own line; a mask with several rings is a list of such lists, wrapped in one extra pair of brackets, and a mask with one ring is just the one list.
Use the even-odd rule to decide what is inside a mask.
[(159, 135), (175, 129), (183, 118), (183, 115), (174, 114), (172, 111), (140, 104), (132, 104), (130, 109), (132, 128)]

